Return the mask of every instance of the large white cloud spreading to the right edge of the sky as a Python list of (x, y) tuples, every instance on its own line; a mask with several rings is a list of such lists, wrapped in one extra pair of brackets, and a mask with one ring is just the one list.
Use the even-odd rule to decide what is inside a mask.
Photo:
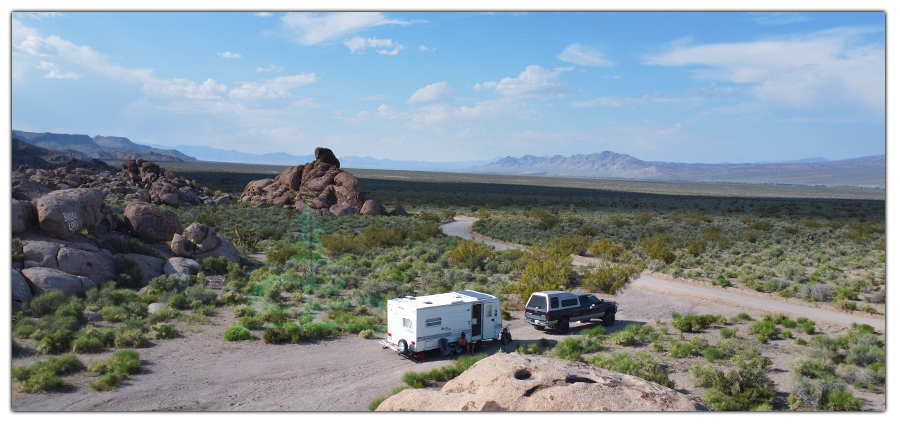
[(743, 43), (675, 46), (647, 63), (698, 67), (694, 77), (751, 87), (758, 99), (794, 107), (863, 106), (883, 111), (885, 47), (859, 43), (878, 28), (838, 28)]

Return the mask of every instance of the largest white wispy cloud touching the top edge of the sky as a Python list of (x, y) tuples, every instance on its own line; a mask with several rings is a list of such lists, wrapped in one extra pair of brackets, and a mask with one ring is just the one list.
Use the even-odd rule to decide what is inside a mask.
[(297, 43), (307, 46), (341, 37), (363, 28), (409, 24), (407, 21), (388, 19), (378, 12), (292, 12), (282, 16), (281, 22), (294, 32)]

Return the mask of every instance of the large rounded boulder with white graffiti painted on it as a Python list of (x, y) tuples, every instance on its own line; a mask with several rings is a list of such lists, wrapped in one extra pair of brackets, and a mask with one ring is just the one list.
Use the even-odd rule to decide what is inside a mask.
[(83, 228), (111, 231), (118, 217), (103, 198), (103, 193), (88, 188), (53, 191), (37, 201), (38, 223), (45, 233), (59, 239), (70, 239)]

